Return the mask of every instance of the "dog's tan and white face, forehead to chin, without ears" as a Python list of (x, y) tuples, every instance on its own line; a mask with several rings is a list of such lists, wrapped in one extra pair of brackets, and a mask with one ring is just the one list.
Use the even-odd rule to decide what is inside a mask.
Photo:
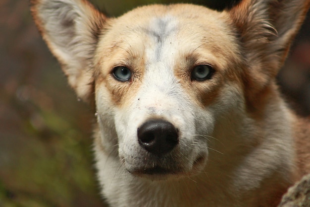
[(201, 171), (216, 120), (244, 107), (240, 51), (225, 16), (153, 5), (110, 24), (96, 52), (95, 94), (121, 162), (140, 176)]

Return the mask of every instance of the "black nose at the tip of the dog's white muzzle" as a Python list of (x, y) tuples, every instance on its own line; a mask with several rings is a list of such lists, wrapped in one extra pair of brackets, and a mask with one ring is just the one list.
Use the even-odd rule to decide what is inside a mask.
[(139, 144), (155, 155), (164, 155), (179, 142), (178, 131), (164, 120), (150, 120), (138, 128)]

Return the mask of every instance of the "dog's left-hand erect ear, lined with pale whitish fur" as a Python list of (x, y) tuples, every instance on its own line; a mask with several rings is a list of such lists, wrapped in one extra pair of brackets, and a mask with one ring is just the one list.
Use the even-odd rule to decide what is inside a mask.
[(33, 18), (79, 98), (93, 93), (92, 59), (106, 17), (87, 0), (31, 0)]

